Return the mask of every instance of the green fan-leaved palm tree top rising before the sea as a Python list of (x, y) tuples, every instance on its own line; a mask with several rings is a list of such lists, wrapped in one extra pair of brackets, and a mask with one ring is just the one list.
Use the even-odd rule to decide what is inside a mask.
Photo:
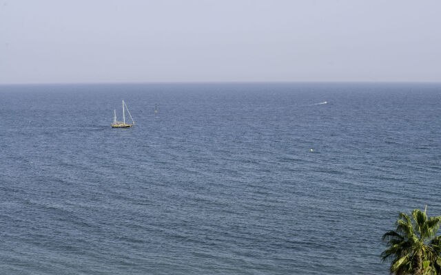
[(435, 236), (441, 216), (428, 219), (426, 210), (413, 210), (410, 216), (400, 213), (396, 229), (383, 235), (388, 248), (381, 257), (391, 262), (391, 274), (441, 274), (441, 236)]

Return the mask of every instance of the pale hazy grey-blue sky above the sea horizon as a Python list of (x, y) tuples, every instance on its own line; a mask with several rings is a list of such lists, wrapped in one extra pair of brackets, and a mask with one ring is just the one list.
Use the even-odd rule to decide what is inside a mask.
[(0, 83), (441, 81), (440, 14), (440, 0), (0, 0)]

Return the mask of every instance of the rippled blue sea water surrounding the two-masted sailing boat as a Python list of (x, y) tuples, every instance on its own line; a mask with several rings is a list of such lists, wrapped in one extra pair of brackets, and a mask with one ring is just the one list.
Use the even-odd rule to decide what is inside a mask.
[(387, 274), (398, 212), (441, 214), (441, 84), (3, 85), (0, 117), (1, 274)]

